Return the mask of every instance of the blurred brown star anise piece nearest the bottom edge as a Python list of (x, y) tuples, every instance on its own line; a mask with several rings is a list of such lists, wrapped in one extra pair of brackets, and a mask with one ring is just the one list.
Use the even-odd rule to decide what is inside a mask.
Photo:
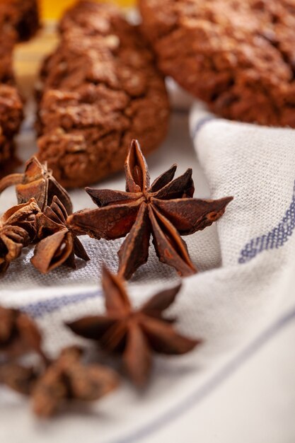
[(83, 365), (79, 347), (67, 347), (40, 376), (33, 388), (33, 410), (36, 415), (49, 417), (65, 401), (95, 401), (113, 391), (117, 376), (98, 364)]

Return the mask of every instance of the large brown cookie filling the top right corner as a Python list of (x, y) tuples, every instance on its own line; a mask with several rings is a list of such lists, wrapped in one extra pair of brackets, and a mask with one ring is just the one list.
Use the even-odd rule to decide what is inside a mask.
[(226, 118), (295, 127), (294, 0), (139, 0), (158, 66)]

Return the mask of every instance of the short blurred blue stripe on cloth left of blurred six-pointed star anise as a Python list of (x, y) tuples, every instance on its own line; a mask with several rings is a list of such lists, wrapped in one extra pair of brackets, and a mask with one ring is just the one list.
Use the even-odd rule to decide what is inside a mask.
[(21, 311), (37, 318), (45, 316), (47, 313), (58, 311), (59, 309), (64, 308), (64, 306), (81, 303), (81, 301), (87, 299), (95, 299), (97, 297), (101, 297), (102, 295), (103, 293), (100, 290), (97, 290), (96, 292), (85, 292), (82, 294), (63, 295), (60, 297), (54, 297), (51, 299), (26, 304), (25, 306), (21, 307)]

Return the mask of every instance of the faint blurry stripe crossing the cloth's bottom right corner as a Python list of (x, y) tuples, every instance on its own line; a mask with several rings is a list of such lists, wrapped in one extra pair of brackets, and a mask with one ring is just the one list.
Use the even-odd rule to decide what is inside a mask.
[(147, 425), (141, 427), (138, 430), (126, 435), (125, 437), (120, 437), (118, 439), (107, 440), (105, 443), (137, 443), (139, 440), (150, 437), (152, 434), (161, 430), (162, 427), (169, 425), (174, 422), (174, 420), (180, 418), (181, 415), (185, 414), (187, 410), (196, 406), (198, 403), (206, 398), (214, 389), (216, 389), (220, 384), (222, 384), (226, 379), (231, 376), (239, 367), (241, 367), (250, 357), (255, 355), (255, 352), (260, 350), (267, 342), (269, 342), (280, 330), (287, 326), (291, 321), (295, 320), (295, 306), (294, 308), (286, 313), (284, 316), (279, 318), (277, 321), (272, 323), (269, 328), (267, 328), (261, 335), (253, 340), (250, 345), (245, 347), (236, 357), (234, 357), (231, 362), (226, 364), (219, 372), (214, 374), (211, 379), (207, 381), (200, 388), (193, 391), (190, 396), (187, 396), (178, 405), (170, 408), (166, 413), (163, 413), (155, 420), (151, 420)]

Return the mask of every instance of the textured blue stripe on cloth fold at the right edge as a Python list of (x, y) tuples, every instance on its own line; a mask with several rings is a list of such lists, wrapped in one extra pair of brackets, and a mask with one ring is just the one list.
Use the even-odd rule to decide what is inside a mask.
[(291, 204), (279, 224), (260, 237), (253, 238), (241, 251), (238, 263), (247, 263), (262, 251), (280, 248), (286, 243), (295, 229), (295, 183)]

